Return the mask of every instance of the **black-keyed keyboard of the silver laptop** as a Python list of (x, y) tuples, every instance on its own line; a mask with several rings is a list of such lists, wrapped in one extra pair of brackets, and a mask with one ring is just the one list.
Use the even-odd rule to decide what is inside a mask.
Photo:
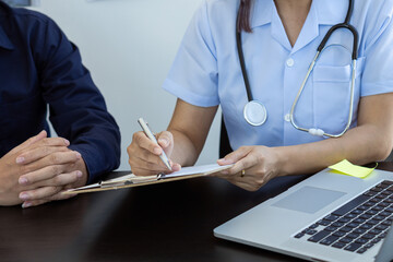
[(393, 181), (384, 180), (319, 222), (297, 239), (364, 253), (381, 241), (393, 221)]

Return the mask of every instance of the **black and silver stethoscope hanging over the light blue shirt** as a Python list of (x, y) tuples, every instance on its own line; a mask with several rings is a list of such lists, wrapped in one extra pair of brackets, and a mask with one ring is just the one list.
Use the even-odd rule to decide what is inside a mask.
[[(355, 78), (356, 78), (355, 70), (356, 70), (356, 59), (357, 59), (357, 46), (358, 46), (358, 33), (357, 33), (356, 28), (349, 24), (349, 20), (352, 17), (353, 10), (354, 10), (354, 1), (349, 0), (348, 11), (347, 11), (344, 23), (333, 25), (329, 29), (326, 35), (323, 37), (319, 47), (317, 48), (317, 55), (313, 58), (313, 60), (308, 69), (306, 78), (305, 78), (303, 82), (301, 83), (301, 86), (296, 95), (296, 98), (294, 100), (294, 104), (293, 104), (293, 106), (290, 108), (290, 112), (289, 112), (290, 123), (297, 130), (309, 132), (312, 135), (319, 135), (319, 136), (325, 135), (325, 136), (330, 136), (330, 138), (340, 138), (350, 127), (352, 119), (353, 119), (353, 109), (354, 109), (354, 93), (355, 93)], [(239, 12), (238, 12), (237, 20), (239, 20)], [(306, 83), (315, 66), (315, 62), (317, 62), (319, 56), (325, 48), (327, 48), (327, 47), (325, 47), (325, 45), (326, 45), (329, 38), (334, 33), (334, 31), (336, 31), (338, 28), (348, 29), (353, 34), (353, 37), (354, 37), (354, 46), (353, 46), (353, 51), (352, 51), (350, 106), (349, 106), (347, 124), (345, 126), (344, 130), (337, 134), (325, 133), (322, 129), (318, 129), (318, 128), (300, 128), (295, 122), (295, 119), (294, 119), (295, 108), (298, 104), (299, 97), (306, 86)], [(241, 34), (238, 29), (236, 29), (236, 43), (237, 43), (237, 49), (238, 49), (238, 55), (239, 55), (239, 60), (240, 60), (241, 73), (242, 73), (242, 76), (245, 80), (247, 97), (249, 100), (243, 108), (243, 117), (245, 117), (246, 121), (251, 126), (254, 126), (254, 127), (262, 126), (267, 119), (267, 111), (266, 111), (266, 107), (260, 100), (255, 100), (252, 97), (251, 87), (250, 87), (249, 79), (248, 79), (247, 71), (246, 71), (245, 56), (242, 52)]]

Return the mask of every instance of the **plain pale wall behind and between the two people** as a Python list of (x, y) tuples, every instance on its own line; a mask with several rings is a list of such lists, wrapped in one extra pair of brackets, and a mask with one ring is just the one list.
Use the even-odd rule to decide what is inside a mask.
[[(121, 170), (130, 169), (127, 146), (140, 130), (136, 119), (143, 117), (154, 131), (166, 129), (170, 120), (176, 97), (160, 86), (201, 1), (40, 0), (33, 8), (53, 19), (79, 46), (120, 127)], [(218, 157), (218, 129), (216, 118), (199, 164)]]

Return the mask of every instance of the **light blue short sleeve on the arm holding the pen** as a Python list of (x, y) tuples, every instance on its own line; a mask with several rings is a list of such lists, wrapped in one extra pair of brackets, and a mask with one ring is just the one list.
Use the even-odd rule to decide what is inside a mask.
[(217, 83), (216, 50), (204, 1), (183, 36), (163, 87), (189, 104), (211, 107), (219, 104)]

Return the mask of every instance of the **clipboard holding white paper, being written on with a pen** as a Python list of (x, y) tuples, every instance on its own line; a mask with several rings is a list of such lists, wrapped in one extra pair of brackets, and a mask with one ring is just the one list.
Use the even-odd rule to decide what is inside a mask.
[(214, 172), (223, 171), (233, 167), (234, 165), (219, 166), (217, 164), (204, 165), (204, 166), (192, 166), (192, 167), (183, 167), (180, 171), (176, 171), (172, 174), (158, 174), (154, 176), (135, 176), (133, 174), (129, 174), (126, 176), (121, 176), (118, 178), (100, 181), (98, 183), (88, 184), (81, 188), (69, 189), (63, 194), (80, 194), (80, 193), (90, 193), (90, 192), (99, 192), (107, 190), (117, 190), (123, 188), (134, 188), (142, 187), (148, 184), (156, 184), (163, 182), (170, 182), (177, 180), (192, 179), (198, 177), (206, 177)]

